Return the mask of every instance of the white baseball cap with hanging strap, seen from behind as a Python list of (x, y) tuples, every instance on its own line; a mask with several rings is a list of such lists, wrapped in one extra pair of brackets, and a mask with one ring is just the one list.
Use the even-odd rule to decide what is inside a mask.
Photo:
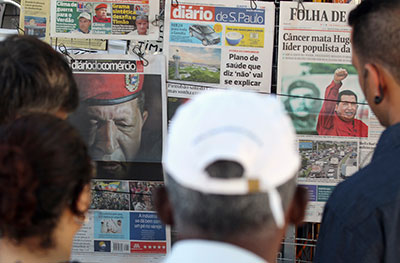
[[(210, 177), (205, 169), (218, 160), (241, 164), (243, 177)], [(300, 157), (294, 128), (275, 97), (223, 90), (204, 92), (178, 108), (163, 165), (177, 183), (202, 193), (268, 193), (275, 222), (283, 227), (276, 188), (296, 175)]]

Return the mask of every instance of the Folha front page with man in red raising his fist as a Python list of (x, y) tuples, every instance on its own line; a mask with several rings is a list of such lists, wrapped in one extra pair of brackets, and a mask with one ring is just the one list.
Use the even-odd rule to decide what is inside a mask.
[(320, 222), (334, 187), (368, 164), (383, 130), (351, 64), (347, 18), (353, 8), (280, 6), (277, 93), (299, 137), (298, 182), (310, 193), (309, 222)]

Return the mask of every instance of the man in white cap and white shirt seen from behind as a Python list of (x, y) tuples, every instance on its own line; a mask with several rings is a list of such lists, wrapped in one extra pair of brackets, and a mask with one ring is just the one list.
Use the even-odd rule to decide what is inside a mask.
[(171, 121), (163, 165), (155, 206), (179, 233), (166, 263), (275, 262), (287, 224), (303, 219), (294, 129), (275, 98), (195, 97)]

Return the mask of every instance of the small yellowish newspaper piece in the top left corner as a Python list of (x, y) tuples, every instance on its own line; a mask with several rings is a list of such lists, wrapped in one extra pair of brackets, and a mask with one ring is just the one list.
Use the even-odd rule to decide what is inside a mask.
[(21, 0), (20, 28), (25, 35), (36, 36), (49, 42), (50, 1)]

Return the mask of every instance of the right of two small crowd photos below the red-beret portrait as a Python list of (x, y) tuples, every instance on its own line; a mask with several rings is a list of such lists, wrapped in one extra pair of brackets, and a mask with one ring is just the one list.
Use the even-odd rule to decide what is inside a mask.
[(163, 182), (130, 182), (131, 210), (154, 211), (153, 191)]

